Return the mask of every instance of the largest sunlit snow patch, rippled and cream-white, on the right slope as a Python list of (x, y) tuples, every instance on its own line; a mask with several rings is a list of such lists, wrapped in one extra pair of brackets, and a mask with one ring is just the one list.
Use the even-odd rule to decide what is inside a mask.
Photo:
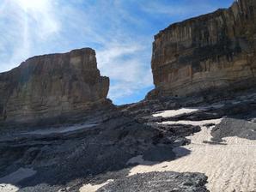
[[(187, 137), (192, 141), (190, 145), (174, 148), (174, 153), (180, 158), (155, 165), (137, 165), (131, 169), (130, 175), (150, 171), (202, 172), (208, 177), (210, 191), (256, 191), (256, 141), (226, 137), (223, 138), (225, 145), (204, 143), (210, 141), (211, 135), (210, 129), (202, 124), (210, 121), (219, 123), (221, 119), (201, 123), (182, 121), (200, 125), (202, 130)], [(183, 156), (184, 149), (191, 153)]]

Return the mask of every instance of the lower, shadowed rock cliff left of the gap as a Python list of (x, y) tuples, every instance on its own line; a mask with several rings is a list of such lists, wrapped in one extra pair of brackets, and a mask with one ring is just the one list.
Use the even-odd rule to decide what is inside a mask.
[(0, 124), (86, 111), (107, 102), (108, 88), (90, 48), (29, 58), (0, 74)]

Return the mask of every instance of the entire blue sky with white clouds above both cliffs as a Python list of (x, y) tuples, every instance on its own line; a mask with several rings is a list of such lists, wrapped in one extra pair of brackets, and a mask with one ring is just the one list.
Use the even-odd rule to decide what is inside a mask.
[(153, 86), (154, 35), (171, 23), (227, 8), (233, 0), (0, 0), (0, 72), (28, 57), (91, 47), (114, 104)]

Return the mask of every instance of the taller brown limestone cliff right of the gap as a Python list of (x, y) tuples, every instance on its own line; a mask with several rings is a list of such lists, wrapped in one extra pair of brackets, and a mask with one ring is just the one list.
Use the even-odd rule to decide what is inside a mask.
[(255, 51), (255, 0), (175, 23), (155, 35), (148, 97), (256, 85)]

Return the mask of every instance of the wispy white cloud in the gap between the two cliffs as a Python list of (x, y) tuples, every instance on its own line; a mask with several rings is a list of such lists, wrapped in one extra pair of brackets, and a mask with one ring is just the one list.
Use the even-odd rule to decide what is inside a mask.
[[(149, 63), (145, 63), (143, 43), (110, 45), (98, 51), (98, 65), (102, 75), (108, 75), (113, 82), (109, 97), (120, 99), (152, 85)], [(150, 56), (149, 56), (150, 57)]]

